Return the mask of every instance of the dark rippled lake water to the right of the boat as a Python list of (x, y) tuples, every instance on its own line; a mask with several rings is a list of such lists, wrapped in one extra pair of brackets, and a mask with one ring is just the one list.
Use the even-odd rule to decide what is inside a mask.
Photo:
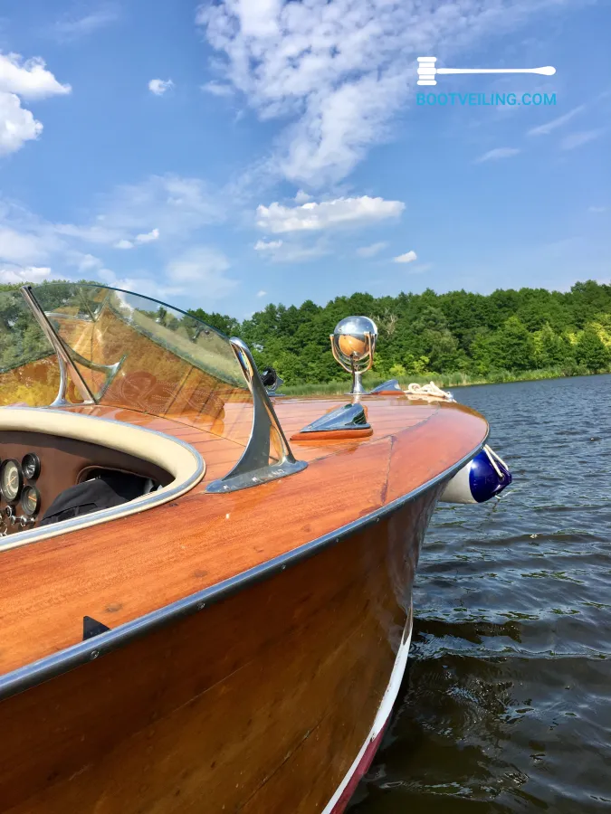
[(611, 811), (611, 376), (457, 388), (514, 484), (434, 514), (351, 814)]

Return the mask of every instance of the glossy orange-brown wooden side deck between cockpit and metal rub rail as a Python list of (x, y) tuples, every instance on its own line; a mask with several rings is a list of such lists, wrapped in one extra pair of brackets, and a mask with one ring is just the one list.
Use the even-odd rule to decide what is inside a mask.
[(367, 516), (484, 437), (485, 422), (464, 408), (426, 414), (411, 429), (342, 454), (319, 451), (325, 457), (299, 476), (222, 496), (197, 487), (138, 516), (6, 552), (0, 579), (11, 596), (0, 596), (0, 670), (75, 644), (84, 615), (115, 628)]

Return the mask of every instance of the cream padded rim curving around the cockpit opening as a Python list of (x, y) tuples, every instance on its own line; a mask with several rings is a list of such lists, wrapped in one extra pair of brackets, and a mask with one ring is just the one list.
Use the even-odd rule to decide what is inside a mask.
[(153, 506), (161, 506), (169, 500), (184, 495), (196, 486), (205, 474), (205, 462), (201, 455), (184, 441), (121, 421), (110, 421), (89, 415), (44, 408), (2, 407), (0, 408), (0, 431), (6, 430), (43, 432), (47, 435), (89, 441), (102, 447), (110, 447), (112, 450), (127, 452), (129, 455), (157, 464), (158, 467), (169, 472), (174, 479), (167, 486), (130, 500), (129, 503), (122, 506), (114, 506), (91, 515), (63, 520), (61, 523), (45, 525), (42, 528), (25, 530), (19, 534), (0, 538), (0, 551), (47, 537), (63, 535), (91, 525), (99, 525), (119, 517), (137, 514)]

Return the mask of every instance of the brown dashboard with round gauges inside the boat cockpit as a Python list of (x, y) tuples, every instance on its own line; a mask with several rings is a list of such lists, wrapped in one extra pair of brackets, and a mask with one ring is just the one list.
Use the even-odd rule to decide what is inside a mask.
[(89, 441), (32, 431), (0, 431), (0, 535), (38, 525), (68, 487), (103, 471), (151, 478), (172, 476), (156, 464)]

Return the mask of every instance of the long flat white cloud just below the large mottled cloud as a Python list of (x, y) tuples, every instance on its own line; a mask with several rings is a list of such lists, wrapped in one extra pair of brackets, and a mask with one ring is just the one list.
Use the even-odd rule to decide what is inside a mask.
[(405, 209), (401, 201), (383, 198), (337, 198), (309, 202), (301, 206), (283, 206), (274, 203), (257, 207), (256, 222), (260, 229), (273, 234), (282, 232), (316, 232), (341, 226), (363, 226), (386, 218), (394, 218)]

